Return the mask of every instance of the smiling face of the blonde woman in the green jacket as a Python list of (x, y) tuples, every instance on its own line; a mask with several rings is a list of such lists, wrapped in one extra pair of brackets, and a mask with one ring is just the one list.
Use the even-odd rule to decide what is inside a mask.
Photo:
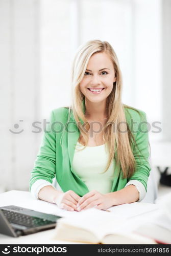
[(80, 90), (91, 102), (106, 100), (116, 81), (111, 59), (105, 52), (93, 54), (88, 62)]

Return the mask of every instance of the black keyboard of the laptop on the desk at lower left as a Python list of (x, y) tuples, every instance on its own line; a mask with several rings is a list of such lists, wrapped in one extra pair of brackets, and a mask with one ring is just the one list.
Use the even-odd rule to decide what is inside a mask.
[(41, 219), (37, 217), (32, 217), (24, 214), (20, 214), (19, 212), (1, 209), (3, 214), (7, 218), (10, 223), (22, 225), (28, 228), (44, 226), (47, 224), (54, 224), (56, 222), (49, 221), (46, 219)]

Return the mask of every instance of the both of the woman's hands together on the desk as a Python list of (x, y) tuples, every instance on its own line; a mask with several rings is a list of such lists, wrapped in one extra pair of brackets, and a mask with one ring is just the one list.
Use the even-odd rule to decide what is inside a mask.
[(70, 211), (81, 211), (92, 207), (105, 210), (112, 206), (112, 200), (111, 193), (101, 194), (96, 190), (92, 190), (83, 197), (80, 197), (74, 191), (68, 190), (58, 196), (56, 204), (61, 209)]

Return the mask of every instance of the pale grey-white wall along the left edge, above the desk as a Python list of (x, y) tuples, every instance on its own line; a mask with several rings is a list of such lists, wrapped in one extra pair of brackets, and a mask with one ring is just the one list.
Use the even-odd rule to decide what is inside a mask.
[(31, 132), (39, 118), (39, 1), (1, 0), (0, 19), (0, 186), (26, 189), (40, 143)]

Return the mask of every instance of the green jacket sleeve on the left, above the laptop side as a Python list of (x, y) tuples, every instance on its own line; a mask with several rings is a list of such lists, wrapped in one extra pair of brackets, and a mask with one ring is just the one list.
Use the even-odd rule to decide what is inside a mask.
[(55, 177), (56, 165), (56, 134), (53, 129), (54, 111), (50, 114), (50, 122), (46, 125), (46, 130), (43, 132), (42, 142), (34, 167), (31, 172), (30, 187), (36, 180), (45, 180), (52, 183)]

